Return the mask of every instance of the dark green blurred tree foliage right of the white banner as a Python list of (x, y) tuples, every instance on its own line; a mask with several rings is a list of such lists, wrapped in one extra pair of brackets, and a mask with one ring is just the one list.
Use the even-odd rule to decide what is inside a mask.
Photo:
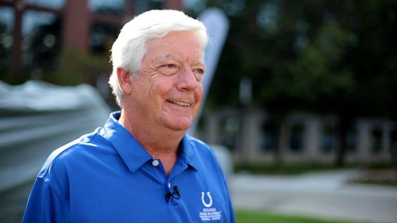
[(249, 77), (252, 103), (269, 111), (395, 118), (396, 1), (205, 4), (223, 8), (230, 20), (209, 104), (242, 106), (239, 80)]

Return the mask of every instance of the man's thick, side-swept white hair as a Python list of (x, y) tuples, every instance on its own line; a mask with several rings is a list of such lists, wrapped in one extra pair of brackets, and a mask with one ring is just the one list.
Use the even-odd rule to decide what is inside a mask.
[(147, 51), (146, 44), (154, 38), (163, 38), (171, 31), (190, 31), (201, 44), (203, 53), (208, 37), (204, 24), (176, 10), (150, 10), (126, 23), (112, 46), (113, 71), (109, 85), (117, 104), (123, 107), (123, 91), (117, 78), (117, 68), (128, 70), (137, 78)]

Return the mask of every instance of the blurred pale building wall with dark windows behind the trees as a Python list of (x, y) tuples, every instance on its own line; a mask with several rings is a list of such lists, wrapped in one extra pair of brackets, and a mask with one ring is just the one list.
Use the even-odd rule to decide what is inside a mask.
[[(291, 113), (284, 117), (274, 133), (276, 136), (280, 133), (280, 137), (275, 137), (279, 145), (275, 147), (280, 149), (278, 156), (276, 148), (265, 149), (261, 145), (263, 125), (275, 122), (271, 114), (261, 110), (229, 109), (210, 113), (204, 118), (203, 139), (210, 144), (229, 143), (225, 145), (232, 148), (233, 159), (237, 162), (332, 163), (340, 147), (336, 132), (339, 120), (334, 115)], [(230, 120), (234, 120), (234, 127), (228, 126)], [(354, 138), (351, 137), (355, 143), (346, 153), (346, 162), (389, 162), (390, 146), (397, 140), (391, 138), (393, 129), (397, 129), (397, 123), (390, 120), (355, 120)], [(301, 146), (293, 148), (292, 140)]]

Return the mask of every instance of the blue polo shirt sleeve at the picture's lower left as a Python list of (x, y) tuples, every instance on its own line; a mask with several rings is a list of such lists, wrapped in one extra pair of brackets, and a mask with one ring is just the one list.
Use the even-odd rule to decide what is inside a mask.
[(34, 181), (22, 222), (69, 222), (62, 201), (43, 178)]

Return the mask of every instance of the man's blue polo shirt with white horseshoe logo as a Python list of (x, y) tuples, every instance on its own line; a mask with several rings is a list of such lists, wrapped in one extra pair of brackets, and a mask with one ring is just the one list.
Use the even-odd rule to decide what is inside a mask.
[(118, 122), (120, 114), (52, 152), (23, 222), (235, 222), (225, 178), (207, 144), (185, 135), (167, 176), (161, 161)]

